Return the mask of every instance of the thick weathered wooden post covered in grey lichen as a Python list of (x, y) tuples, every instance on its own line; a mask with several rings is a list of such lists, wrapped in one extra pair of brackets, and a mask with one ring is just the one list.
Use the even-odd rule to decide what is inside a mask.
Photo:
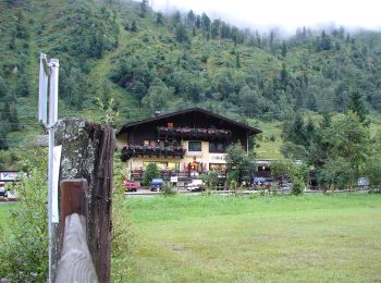
[[(84, 120), (57, 124), (57, 145), (62, 145), (61, 180), (88, 183), (87, 242), (100, 282), (110, 282), (111, 189), (114, 131)], [(56, 242), (54, 245), (60, 246)]]

